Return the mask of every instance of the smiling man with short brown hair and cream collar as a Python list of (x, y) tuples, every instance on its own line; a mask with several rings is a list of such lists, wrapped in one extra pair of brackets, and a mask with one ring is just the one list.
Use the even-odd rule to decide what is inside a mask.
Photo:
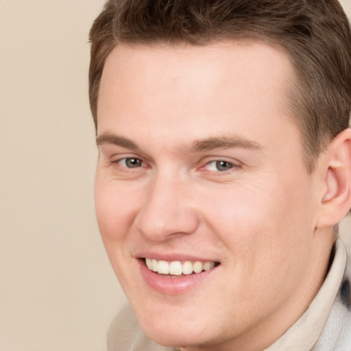
[(90, 40), (97, 219), (131, 306), (108, 350), (351, 350), (337, 0), (110, 0)]

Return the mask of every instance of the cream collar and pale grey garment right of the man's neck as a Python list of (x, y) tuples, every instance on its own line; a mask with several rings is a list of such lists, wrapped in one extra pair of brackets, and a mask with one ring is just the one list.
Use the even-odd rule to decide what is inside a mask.
[[(322, 345), (323, 343), (325, 345), (326, 341), (322, 343), (322, 340), (336, 339), (340, 333), (347, 337), (348, 330), (351, 330), (350, 305), (348, 306), (350, 296), (344, 289), (346, 286), (350, 288), (350, 280), (344, 275), (346, 259), (345, 246), (341, 239), (338, 239), (335, 243), (335, 256), (332, 265), (314, 300), (298, 321), (265, 351), (338, 350), (325, 348)], [(338, 330), (333, 330), (343, 319), (347, 324), (340, 325), (337, 327)], [(343, 332), (343, 328), (345, 328), (345, 332)], [(351, 339), (349, 340), (351, 343)], [(332, 342), (330, 340), (330, 343)], [(337, 341), (335, 340), (335, 342)], [(319, 346), (317, 346), (318, 344)], [(351, 350), (351, 346), (350, 349), (340, 350)]]

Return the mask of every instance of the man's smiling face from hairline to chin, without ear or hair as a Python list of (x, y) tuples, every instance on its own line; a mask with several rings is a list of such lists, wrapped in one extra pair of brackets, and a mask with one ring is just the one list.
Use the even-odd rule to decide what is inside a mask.
[(108, 56), (97, 219), (156, 342), (252, 350), (304, 312), (316, 186), (289, 117), (292, 79), (285, 54), (263, 43), (119, 45)]

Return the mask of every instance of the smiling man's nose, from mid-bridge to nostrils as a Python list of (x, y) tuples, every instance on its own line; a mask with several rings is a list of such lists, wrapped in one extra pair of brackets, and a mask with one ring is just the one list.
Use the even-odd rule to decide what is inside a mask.
[(136, 228), (152, 241), (191, 234), (199, 226), (197, 211), (189, 199), (189, 186), (179, 180), (154, 179), (147, 185), (146, 197), (138, 211)]

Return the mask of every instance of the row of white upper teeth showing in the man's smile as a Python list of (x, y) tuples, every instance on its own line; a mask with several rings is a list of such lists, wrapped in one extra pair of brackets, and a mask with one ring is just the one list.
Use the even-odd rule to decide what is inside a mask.
[(182, 274), (200, 273), (202, 271), (208, 271), (215, 267), (215, 263), (212, 261), (201, 262), (201, 261), (157, 261), (154, 258), (145, 258), (147, 268), (151, 271), (159, 274), (170, 274), (171, 276), (181, 276)]

